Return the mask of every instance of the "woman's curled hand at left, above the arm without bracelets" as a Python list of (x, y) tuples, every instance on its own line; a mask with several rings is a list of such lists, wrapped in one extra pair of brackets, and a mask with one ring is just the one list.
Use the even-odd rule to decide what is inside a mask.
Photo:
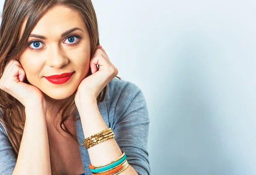
[(0, 79), (0, 89), (9, 93), (25, 107), (28, 104), (33, 104), (36, 100), (41, 100), (45, 105), (46, 100), (42, 91), (33, 85), (24, 83), (25, 76), (26, 73), (20, 63), (11, 59)]

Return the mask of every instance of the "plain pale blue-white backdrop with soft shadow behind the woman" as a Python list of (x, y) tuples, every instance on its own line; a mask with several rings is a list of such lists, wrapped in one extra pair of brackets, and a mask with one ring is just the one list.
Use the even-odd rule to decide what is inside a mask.
[(256, 1), (93, 5), (118, 76), (145, 95), (151, 175), (255, 175)]

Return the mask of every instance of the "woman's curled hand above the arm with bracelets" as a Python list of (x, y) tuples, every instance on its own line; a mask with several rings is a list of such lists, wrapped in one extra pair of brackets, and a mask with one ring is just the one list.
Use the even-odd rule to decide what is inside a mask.
[[(97, 64), (99, 64), (99, 68), (97, 68)], [(75, 94), (76, 104), (83, 99), (96, 99), (102, 89), (118, 74), (117, 68), (110, 62), (101, 45), (96, 47), (90, 60), (90, 69), (91, 72), (89, 71), (87, 77), (79, 84)]]

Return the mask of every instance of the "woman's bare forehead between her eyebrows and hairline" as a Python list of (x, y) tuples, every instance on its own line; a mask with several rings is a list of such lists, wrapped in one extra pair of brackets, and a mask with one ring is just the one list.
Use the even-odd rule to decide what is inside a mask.
[[(21, 34), (25, 29), (26, 21), (27, 19), (24, 20)], [(63, 31), (67, 31), (73, 27), (79, 27), (87, 31), (86, 25), (78, 11), (65, 6), (55, 6), (40, 18), (31, 34), (52, 37), (54, 35), (60, 35)]]

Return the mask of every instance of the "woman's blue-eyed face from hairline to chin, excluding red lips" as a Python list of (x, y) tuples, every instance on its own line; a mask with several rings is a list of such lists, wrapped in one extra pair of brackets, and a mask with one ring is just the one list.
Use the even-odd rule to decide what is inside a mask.
[[(55, 6), (35, 25), (27, 44), (20, 64), (29, 83), (52, 99), (71, 96), (90, 68), (90, 38), (80, 14)], [(44, 77), (72, 72), (72, 77), (61, 84)]]

